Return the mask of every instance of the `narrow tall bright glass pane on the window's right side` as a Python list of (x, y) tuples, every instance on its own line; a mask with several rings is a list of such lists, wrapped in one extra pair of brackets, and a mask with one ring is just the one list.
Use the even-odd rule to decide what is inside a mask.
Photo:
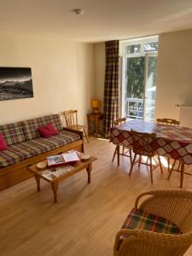
[(157, 56), (148, 56), (148, 77), (146, 83), (145, 119), (154, 119), (154, 105), (157, 79)]

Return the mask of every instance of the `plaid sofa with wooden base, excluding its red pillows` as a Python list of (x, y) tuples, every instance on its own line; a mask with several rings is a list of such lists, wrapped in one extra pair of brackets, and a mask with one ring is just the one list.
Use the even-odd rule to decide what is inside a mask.
[[(44, 138), (38, 134), (38, 126), (52, 123), (60, 131), (58, 135)], [(0, 133), (8, 150), (0, 151), (0, 190), (32, 177), (26, 167), (50, 154), (69, 149), (84, 151), (83, 133), (63, 128), (59, 114), (28, 119), (9, 125), (0, 125)]]

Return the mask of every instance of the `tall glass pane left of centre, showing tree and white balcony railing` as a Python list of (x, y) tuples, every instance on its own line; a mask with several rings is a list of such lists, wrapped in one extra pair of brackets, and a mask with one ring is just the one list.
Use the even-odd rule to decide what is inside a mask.
[(126, 106), (128, 119), (143, 118), (144, 57), (127, 58)]

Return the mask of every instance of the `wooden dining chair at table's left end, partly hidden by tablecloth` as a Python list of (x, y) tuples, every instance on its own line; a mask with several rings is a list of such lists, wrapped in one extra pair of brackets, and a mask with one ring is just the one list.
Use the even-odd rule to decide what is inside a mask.
[[(126, 118), (114, 119), (113, 120), (113, 125), (114, 126), (122, 125), (122, 124), (125, 124), (125, 122), (126, 122)], [(125, 149), (127, 149), (127, 151), (125, 151)], [(128, 147), (122, 146), (122, 153), (120, 153), (119, 145), (117, 145), (116, 148), (114, 149), (112, 162), (113, 162), (116, 155), (118, 157), (118, 166), (119, 166), (119, 155), (130, 157), (130, 161), (132, 161), (131, 149), (128, 148)]]

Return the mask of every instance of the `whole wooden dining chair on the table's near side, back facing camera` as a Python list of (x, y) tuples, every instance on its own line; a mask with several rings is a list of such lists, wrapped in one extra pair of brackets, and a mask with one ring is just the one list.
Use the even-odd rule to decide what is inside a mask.
[[(129, 172), (129, 176), (131, 176), (131, 172), (133, 169), (133, 166), (138, 162), (138, 165), (140, 164), (150, 166), (150, 177), (151, 177), (151, 183), (154, 183), (153, 178), (153, 171), (157, 166), (160, 166), (161, 173), (163, 172), (162, 166), (160, 163), (160, 156), (157, 154), (157, 152), (153, 148), (154, 141), (156, 139), (156, 133), (145, 133), (145, 132), (137, 132), (131, 130), (131, 137), (132, 137), (132, 145), (133, 145), (133, 153), (134, 157), (131, 162), (131, 169)], [(139, 160), (136, 161), (137, 155), (139, 156)], [(156, 166), (153, 166), (152, 159), (153, 157), (157, 155), (159, 164)], [(147, 162), (142, 162), (142, 156), (148, 157)]]

